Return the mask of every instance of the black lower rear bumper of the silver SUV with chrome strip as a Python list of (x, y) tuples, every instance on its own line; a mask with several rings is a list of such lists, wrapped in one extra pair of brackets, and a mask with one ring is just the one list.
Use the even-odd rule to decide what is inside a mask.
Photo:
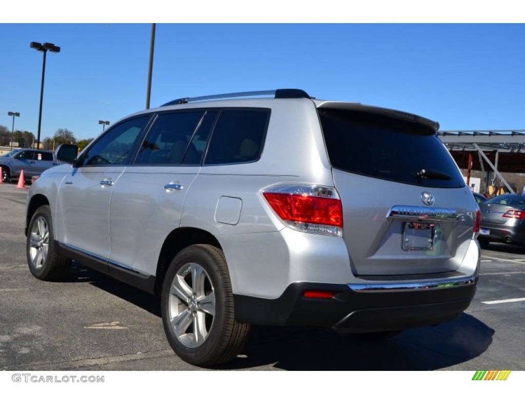
[[(392, 285), (293, 283), (281, 297), (234, 295), (238, 322), (332, 327), (346, 332), (435, 325), (461, 315), (476, 292), (477, 277)], [(305, 291), (333, 292), (307, 298)]]

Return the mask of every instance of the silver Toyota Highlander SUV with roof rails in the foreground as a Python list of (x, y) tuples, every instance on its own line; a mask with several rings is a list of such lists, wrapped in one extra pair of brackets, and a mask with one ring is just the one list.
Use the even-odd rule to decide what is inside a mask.
[(298, 89), (135, 113), (78, 157), (61, 146), (71, 164), (31, 186), (29, 269), (56, 280), (75, 260), (161, 294), (167, 339), (201, 366), (235, 357), (250, 324), (447, 322), (474, 297), (480, 216), (437, 129)]

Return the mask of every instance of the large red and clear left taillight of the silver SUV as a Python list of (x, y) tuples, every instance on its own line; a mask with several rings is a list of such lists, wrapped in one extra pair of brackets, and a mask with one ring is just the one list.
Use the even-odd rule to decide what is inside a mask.
[(342, 235), (343, 208), (334, 188), (286, 183), (268, 186), (262, 195), (280, 219), (293, 229)]

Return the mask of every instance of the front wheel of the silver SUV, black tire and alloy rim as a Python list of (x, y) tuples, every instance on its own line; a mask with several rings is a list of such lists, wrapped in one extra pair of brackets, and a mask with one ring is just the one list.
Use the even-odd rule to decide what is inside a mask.
[(29, 271), (42, 281), (59, 281), (71, 267), (71, 260), (57, 253), (49, 205), (40, 206), (31, 217), (26, 255)]

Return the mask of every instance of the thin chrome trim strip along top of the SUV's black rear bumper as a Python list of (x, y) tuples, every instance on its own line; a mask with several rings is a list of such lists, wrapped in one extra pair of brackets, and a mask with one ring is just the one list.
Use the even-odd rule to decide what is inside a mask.
[(354, 292), (388, 293), (443, 289), (455, 286), (471, 286), (476, 284), (478, 277), (461, 279), (446, 279), (444, 281), (414, 282), (414, 283), (379, 283), (379, 284), (355, 284), (348, 283), (348, 287)]

